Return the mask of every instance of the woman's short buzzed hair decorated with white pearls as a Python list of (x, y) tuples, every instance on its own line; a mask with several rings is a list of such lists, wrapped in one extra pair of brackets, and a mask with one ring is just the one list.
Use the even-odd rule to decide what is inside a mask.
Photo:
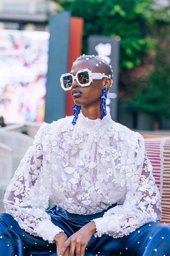
[[(78, 57), (75, 62), (78, 62), (79, 60), (86, 60), (89, 59), (87, 61), (90, 61), (91, 63), (94, 63), (95, 65), (98, 64), (99, 66), (97, 66), (99, 68), (99, 72), (101, 74), (105, 74), (112, 79), (112, 69), (111, 66), (109, 66), (109, 64), (107, 63), (106, 60), (102, 59), (101, 57), (98, 56), (94, 56), (94, 55), (83, 55)], [(74, 63), (74, 62), (73, 62)], [(101, 64), (100, 64), (101, 63)]]

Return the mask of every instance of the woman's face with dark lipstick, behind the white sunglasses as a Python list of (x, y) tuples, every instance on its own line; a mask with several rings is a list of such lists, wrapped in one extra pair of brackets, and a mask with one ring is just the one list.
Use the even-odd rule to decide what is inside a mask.
[[(76, 75), (79, 70), (91, 68), (92, 73), (100, 73), (99, 68), (90, 61), (78, 60), (73, 64), (71, 68), (71, 73)], [(77, 81), (73, 82), (73, 87), (71, 89), (71, 95), (76, 105), (92, 105), (101, 103), (102, 89), (106, 84), (107, 78), (94, 79), (92, 85), (81, 87)], [(110, 80), (111, 81), (111, 80)], [(108, 87), (109, 88), (109, 87)], [(107, 89), (108, 89), (107, 88)]]

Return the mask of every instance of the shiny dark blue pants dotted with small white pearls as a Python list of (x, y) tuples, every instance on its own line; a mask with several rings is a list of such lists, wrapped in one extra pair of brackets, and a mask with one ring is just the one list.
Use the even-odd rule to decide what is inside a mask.
[[(47, 213), (51, 215), (52, 222), (62, 228), (68, 237), (90, 222), (90, 220), (76, 218), (77, 214), (67, 214), (57, 206), (48, 210)], [(0, 256), (16, 255), (57, 256), (56, 244), (49, 244), (41, 237), (30, 235), (19, 227), (10, 214), (1, 213)], [(92, 236), (85, 256), (94, 255), (170, 256), (170, 227), (163, 223), (151, 222), (121, 238), (115, 239), (108, 235)]]

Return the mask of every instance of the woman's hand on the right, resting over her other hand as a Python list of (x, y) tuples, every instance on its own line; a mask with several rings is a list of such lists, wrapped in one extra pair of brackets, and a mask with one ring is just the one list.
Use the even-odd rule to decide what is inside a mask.
[[(81, 229), (79, 229), (76, 233), (70, 236), (65, 243), (63, 244), (60, 254), (57, 253), (58, 256), (67, 255), (68, 249), (70, 248), (69, 256), (74, 256), (76, 250), (76, 256), (84, 256), (85, 248), (92, 238), (92, 235), (96, 232), (96, 225), (94, 221), (89, 222)], [(59, 252), (57, 250), (57, 252)]]

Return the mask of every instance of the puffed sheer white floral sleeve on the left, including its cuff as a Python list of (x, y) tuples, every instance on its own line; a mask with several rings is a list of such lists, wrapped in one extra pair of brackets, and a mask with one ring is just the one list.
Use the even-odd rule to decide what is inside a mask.
[[(43, 137), (48, 124), (43, 123), (35, 136), (33, 146), (21, 160), (9, 184), (4, 204), (6, 212), (18, 222), (20, 228), (53, 242), (56, 234), (63, 230), (51, 222), (45, 210), (48, 208), (49, 186), (51, 182), (43, 153)], [(42, 146), (43, 145), (43, 146)]]

